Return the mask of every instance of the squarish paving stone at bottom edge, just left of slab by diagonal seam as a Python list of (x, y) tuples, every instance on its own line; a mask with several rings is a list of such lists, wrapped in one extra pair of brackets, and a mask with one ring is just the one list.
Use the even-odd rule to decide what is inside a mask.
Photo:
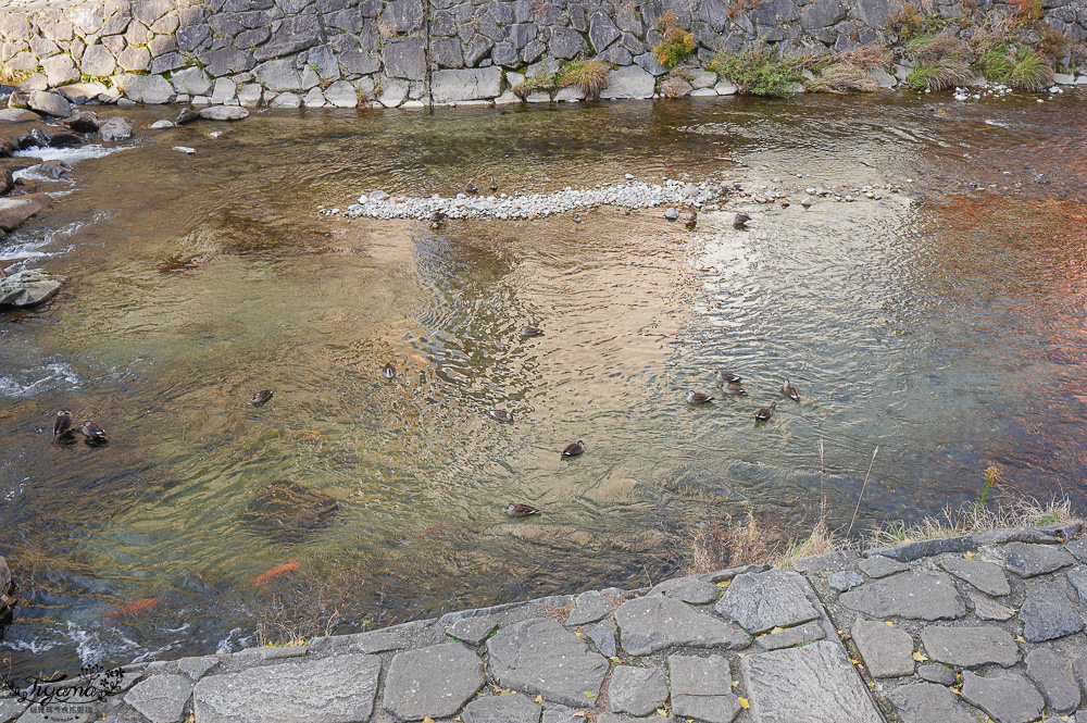
[(669, 656), (672, 712), (707, 723), (730, 723), (740, 711), (724, 656)]

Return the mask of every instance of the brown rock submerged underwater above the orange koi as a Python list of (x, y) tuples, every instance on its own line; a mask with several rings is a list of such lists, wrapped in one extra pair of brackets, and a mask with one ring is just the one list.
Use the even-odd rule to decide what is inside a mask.
[(277, 543), (298, 543), (327, 527), (338, 510), (339, 502), (328, 495), (278, 479), (253, 494), (241, 520)]

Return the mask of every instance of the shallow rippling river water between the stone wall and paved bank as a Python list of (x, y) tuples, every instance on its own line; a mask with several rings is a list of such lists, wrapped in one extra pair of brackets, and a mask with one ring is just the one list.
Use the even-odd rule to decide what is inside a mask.
[[(43, 182), (53, 208), (0, 241), (9, 271), (71, 279), (0, 315), (0, 553), (24, 595), (0, 659), (72, 672), (254, 645), (300, 615), (321, 621), (307, 636), (640, 586), (673, 570), (699, 494), (784, 539), (822, 484), (847, 525), (876, 447), (857, 528), (973, 499), (989, 465), (1082, 509), (1085, 100), (276, 111), (64, 151), (76, 179)], [(695, 232), (661, 209), (438, 230), (316, 212), (626, 173), (792, 204), (734, 200)], [(862, 185), (901, 190), (798, 202)], [(750, 396), (686, 404), (721, 366)], [(111, 444), (54, 444), (59, 409)], [(338, 500), (327, 526), (247, 523), (280, 479)]]

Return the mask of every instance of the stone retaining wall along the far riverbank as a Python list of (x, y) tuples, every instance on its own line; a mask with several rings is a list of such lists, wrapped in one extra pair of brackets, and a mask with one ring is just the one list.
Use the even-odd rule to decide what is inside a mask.
[[(1084, 40), (1087, 2), (1042, 0), (1047, 22)], [(672, 12), (698, 40), (679, 92), (730, 92), (701, 70), (721, 49), (786, 53), (896, 37), (899, 0), (20, 0), (0, 13), (0, 63), (24, 88), (116, 102), (425, 107), (517, 102), (527, 75), (563, 60), (613, 65), (604, 98), (652, 97), (651, 50)], [(959, 0), (936, 0), (953, 17)], [(1007, 13), (978, 0), (976, 12)], [(1085, 80), (1087, 82), (1087, 80)], [(894, 79), (890, 80), (894, 85)], [(577, 100), (573, 88), (557, 100)], [(547, 96), (530, 100), (550, 100)]]

